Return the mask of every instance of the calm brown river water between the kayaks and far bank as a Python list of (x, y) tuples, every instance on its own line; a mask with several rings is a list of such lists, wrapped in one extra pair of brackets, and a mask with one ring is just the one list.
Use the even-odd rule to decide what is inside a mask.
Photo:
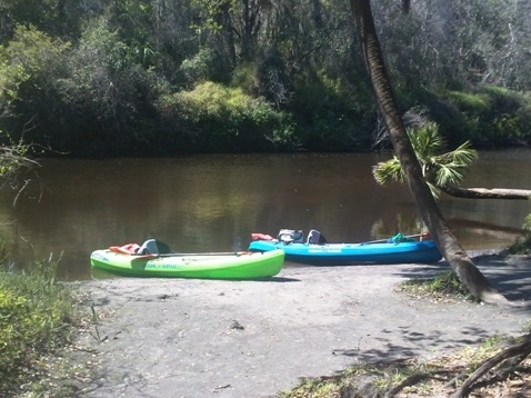
[[(380, 187), (371, 168), (389, 155), (209, 155), (171, 159), (46, 159), (0, 226), (13, 268), (59, 259), (59, 278), (92, 277), (92, 250), (154, 237), (176, 251), (247, 249), (252, 232), (318, 229), (328, 241), (418, 233), (407, 187)], [(463, 187), (531, 189), (531, 149), (480, 152)], [(441, 211), (467, 250), (518, 237), (531, 203), (442, 196)]]

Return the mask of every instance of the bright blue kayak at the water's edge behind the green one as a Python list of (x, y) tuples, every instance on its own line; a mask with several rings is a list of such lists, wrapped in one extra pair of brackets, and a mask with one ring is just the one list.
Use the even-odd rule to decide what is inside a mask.
[[(253, 235), (256, 238), (257, 235)], [(258, 235), (264, 237), (263, 235)], [(268, 236), (266, 236), (268, 237)], [(313, 266), (348, 266), (353, 263), (430, 263), (442, 258), (433, 240), (389, 239), (362, 243), (312, 243), (284, 239), (258, 238), (250, 251), (282, 249), (285, 260)]]

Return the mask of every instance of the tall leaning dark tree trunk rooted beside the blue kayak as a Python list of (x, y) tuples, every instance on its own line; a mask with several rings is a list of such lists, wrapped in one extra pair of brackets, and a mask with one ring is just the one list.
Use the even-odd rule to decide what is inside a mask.
[(413, 147), (405, 132), (394, 100), (374, 28), (370, 0), (351, 0), (351, 7), (355, 19), (361, 50), (375, 91), (380, 111), (422, 219), (448, 263), (467, 289), (484, 302), (507, 304), (507, 299), (490, 286), (487, 278), (474, 266), (470, 257), (459, 245), (457, 238), (450, 231), (422, 176), (419, 160), (414, 155)]

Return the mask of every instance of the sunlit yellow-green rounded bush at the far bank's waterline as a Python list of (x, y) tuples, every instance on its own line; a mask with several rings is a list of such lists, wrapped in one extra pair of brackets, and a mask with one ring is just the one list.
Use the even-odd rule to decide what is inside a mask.
[(261, 98), (211, 81), (161, 96), (162, 136), (181, 152), (246, 152), (295, 148), (291, 118)]

